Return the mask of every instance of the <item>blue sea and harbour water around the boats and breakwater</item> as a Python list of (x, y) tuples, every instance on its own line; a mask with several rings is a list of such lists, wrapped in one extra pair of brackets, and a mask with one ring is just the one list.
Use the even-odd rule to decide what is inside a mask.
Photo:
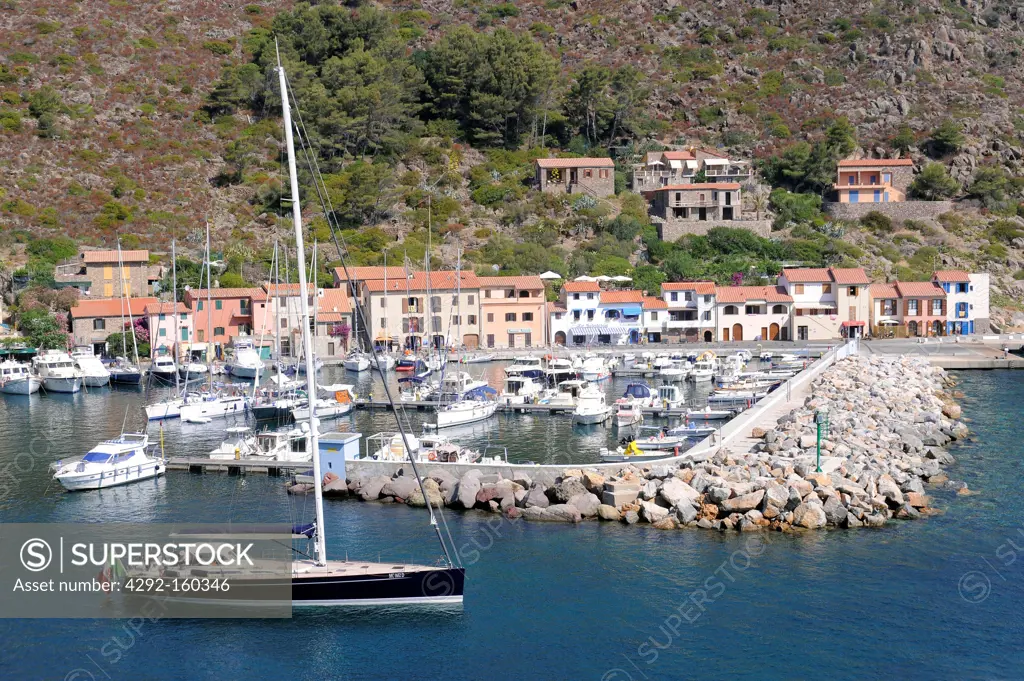
[[(936, 517), (752, 536), (449, 513), (468, 568), (462, 609), (147, 622), (137, 631), (114, 620), (0, 620), (0, 670), (5, 678), (80, 680), (1020, 678), (1024, 376), (962, 379), (974, 435), (950, 450), (957, 463), (947, 472), (977, 494), (929, 491), (944, 510)], [(613, 383), (609, 394), (624, 387)], [(119, 391), (0, 400), (0, 520), (311, 516), (310, 501), (289, 498), (281, 479), (262, 476), (172, 472), (122, 488), (60, 493), (46, 466), (117, 434), (125, 408), (138, 399)], [(392, 424), (386, 412), (349, 420), (365, 434)], [(205, 452), (223, 436), (187, 424), (165, 432), (169, 453)], [(499, 416), (492, 428), (459, 437), (507, 445), (510, 459), (571, 463), (593, 461), (581, 453), (616, 434), (573, 429), (567, 417)], [(329, 501), (329, 553), (431, 560), (438, 549), (425, 516), (401, 505)]]

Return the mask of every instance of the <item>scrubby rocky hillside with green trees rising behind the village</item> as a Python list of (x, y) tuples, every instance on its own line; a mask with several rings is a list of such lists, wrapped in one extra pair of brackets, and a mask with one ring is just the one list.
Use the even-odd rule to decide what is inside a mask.
[[(879, 276), (936, 263), (992, 270), (1008, 318), (1024, 298), (1024, 15), (1012, 3), (292, 6), (0, 3), (0, 222), (12, 264), (32, 237), (100, 245), (122, 233), (160, 251), (209, 220), (239, 272), (258, 276), (280, 211), (266, 77), (276, 33), (358, 261), (422, 257), (429, 204), (449, 264), (456, 250), (438, 232), (458, 235), (470, 263), (509, 271), (650, 261), (638, 279), (656, 286), (663, 274), (757, 278), (793, 259), (860, 262)], [(939, 221), (835, 225), (779, 199), (773, 244), (669, 245), (628, 191), (592, 206), (526, 186), (530, 159), (548, 150), (610, 150), (625, 189), (651, 141), (761, 160), (800, 201), (829, 181), (820, 161), (902, 153), (919, 170), (942, 164), (967, 201)], [(802, 142), (825, 150), (816, 166)], [(779, 179), (794, 159), (799, 179)], [(327, 237), (323, 220), (313, 228)]]

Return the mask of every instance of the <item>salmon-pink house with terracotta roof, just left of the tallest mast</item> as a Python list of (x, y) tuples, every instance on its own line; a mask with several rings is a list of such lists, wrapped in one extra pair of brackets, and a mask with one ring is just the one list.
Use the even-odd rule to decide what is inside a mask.
[(272, 318), (267, 315), (263, 289), (196, 289), (185, 293), (185, 304), (193, 312), (196, 343), (224, 346), (241, 335), (258, 343), (261, 331), (269, 339), (265, 338), (264, 344), (273, 343)]

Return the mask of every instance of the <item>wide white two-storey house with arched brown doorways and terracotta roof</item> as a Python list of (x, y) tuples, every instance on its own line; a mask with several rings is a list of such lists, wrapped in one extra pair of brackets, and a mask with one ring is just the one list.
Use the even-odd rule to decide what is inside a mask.
[(723, 341), (791, 340), (793, 297), (780, 286), (716, 290), (718, 337)]

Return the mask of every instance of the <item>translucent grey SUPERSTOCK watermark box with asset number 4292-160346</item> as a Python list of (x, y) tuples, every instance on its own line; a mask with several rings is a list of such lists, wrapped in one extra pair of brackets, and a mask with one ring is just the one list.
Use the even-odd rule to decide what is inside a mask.
[(290, 618), (286, 524), (3, 523), (0, 618)]

